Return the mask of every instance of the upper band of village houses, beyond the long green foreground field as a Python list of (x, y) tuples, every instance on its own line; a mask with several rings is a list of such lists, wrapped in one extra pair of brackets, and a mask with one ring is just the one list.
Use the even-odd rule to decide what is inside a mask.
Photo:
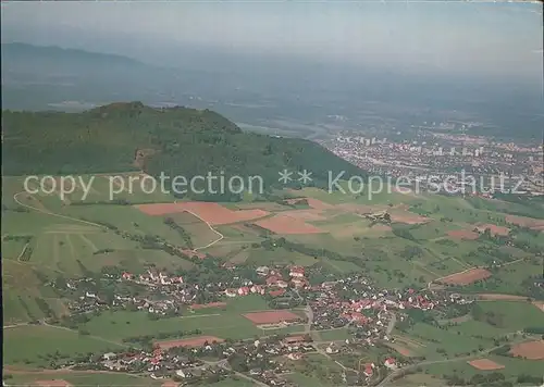
[[(196, 303), (199, 292), (203, 290), (220, 300), (222, 297), (263, 296), (267, 294), (272, 297), (281, 297), (288, 287), (305, 288), (311, 295), (309, 304), (313, 310), (313, 329), (330, 329), (349, 325), (367, 328), (367, 338), (383, 339), (392, 310), (410, 308), (432, 310), (450, 303), (471, 302), (458, 295), (444, 292), (426, 291), (421, 294), (415, 289), (406, 291), (379, 289), (362, 275), (309, 286), (305, 277), (305, 267), (301, 266), (289, 267), (288, 280), (276, 269), (260, 266), (257, 267), (256, 272), (262, 277), (262, 285), (240, 279), (237, 280), (242, 285), (239, 287), (232, 287), (232, 283), (219, 283), (208, 284), (205, 289), (200, 289), (198, 284), (184, 283), (182, 276), (170, 276), (151, 271), (140, 275), (124, 272), (118, 277), (108, 274), (110, 279), (134, 282), (146, 286), (149, 290), (147, 295), (138, 297), (114, 295), (110, 304), (124, 308), (131, 305), (135, 310), (159, 315), (175, 315), (180, 313), (182, 305)], [(110, 305), (95, 291), (89, 290), (95, 288), (92, 284), (94, 280), (89, 278), (70, 279), (66, 283), (69, 289), (77, 291), (79, 295), (75, 302), (70, 305), (72, 313), (86, 313)]]

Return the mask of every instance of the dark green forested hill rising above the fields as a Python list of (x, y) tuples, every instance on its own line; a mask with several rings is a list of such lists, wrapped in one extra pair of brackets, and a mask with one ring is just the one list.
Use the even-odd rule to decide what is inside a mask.
[(260, 175), (274, 187), (284, 168), (312, 172), (318, 186), (326, 186), (329, 171), (363, 174), (314, 142), (245, 133), (209, 110), (129, 102), (82, 113), (3, 111), (2, 118), (7, 175), (141, 167), (156, 176), (164, 172), (190, 178), (224, 171), (225, 176)]

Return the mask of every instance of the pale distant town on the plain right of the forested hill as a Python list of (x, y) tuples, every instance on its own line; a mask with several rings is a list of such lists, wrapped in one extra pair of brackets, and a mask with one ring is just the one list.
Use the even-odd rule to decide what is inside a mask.
[[(498, 142), (489, 137), (462, 133), (477, 125), (423, 122), (421, 126), (412, 125), (418, 133), (415, 139), (396, 141), (343, 130), (335, 138), (320, 142), (371, 174), (394, 178), (403, 176), (411, 182), (407, 184), (411, 187), (416, 182), (431, 180), (462, 187), (467, 184), (462, 173), (474, 177), (478, 185), (475, 190), (460, 189), (460, 195), (493, 197), (495, 192), (510, 191), (527, 196), (543, 195), (542, 143)], [(455, 134), (448, 134), (454, 129)]]

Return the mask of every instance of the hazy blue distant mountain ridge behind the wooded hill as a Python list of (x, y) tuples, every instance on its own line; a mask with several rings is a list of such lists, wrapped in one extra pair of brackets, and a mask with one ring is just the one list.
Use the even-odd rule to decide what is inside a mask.
[(124, 55), (26, 43), (1, 49), (3, 109), (82, 111), (66, 101), (154, 103), (185, 89), (175, 71)]

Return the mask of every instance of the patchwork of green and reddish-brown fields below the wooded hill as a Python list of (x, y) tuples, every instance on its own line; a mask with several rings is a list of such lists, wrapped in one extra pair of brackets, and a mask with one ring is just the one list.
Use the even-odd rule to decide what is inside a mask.
[[(70, 314), (69, 305), (73, 303), (70, 295), (59, 298), (50, 286), (45, 285), (59, 277), (91, 277), (123, 267), (138, 275), (147, 275), (148, 272), (178, 273), (176, 275), (188, 283), (200, 282), (206, 287), (208, 284), (215, 285), (221, 280), (218, 278), (254, 273), (259, 266), (272, 270), (277, 266), (280, 271), (301, 266), (314, 276), (312, 280), (317, 286), (327, 278), (367, 273), (373, 283), (388, 289), (426, 288), (429, 284), (441, 284), (455, 287), (460, 292), (466, 289), (473, 295), (486, 295), (481, 290), (485, 290), (489, 284), (498, 280), (507, 284), (508, 278), (515, 279), (517, 291), (526, 291), (527, 286), (521, 284), (537, 267), (516, 246), (497, 248), (497, 251), (510, 255), (504, 259), (508, 265), (491, 267), (486, 264), (490, 261), (485, 260), (483, 251), (496, 253), (493, 240), (481, 237), (484, 229), (474, 229), (491, 224), (491, 221), (478, 209), (471, 210), (471, 216), (461, 216), (460, 210), (455, 210), (459, 205), (456, 200), (449, 203), (440, 199), (441, 211), (453, 222), (443, 221), (444, 214), (431, 211), (437, 205), (434, 202), (437, 199), (432, 197), (398, 195), (392, 196), (388, 202), (380, 198), (374, 203), (318, 189), (296, 190), (292, 195), (296, 194), (297, 198), (265, 202), (175, 202), (173, 198), (164, 197), (144, 199), (145, 194), (138, 194), (141, 198), (137, 201), (133, 198), (129, 203), (108, 203), (101, 194), (108, 179), (102, 177), (100, 180), (103, 182), (96, 186), (96, 192), (89, 192), (92, 202), (87, 204), (77, 200), (77, 191), (69, 197), (70, 202), (60, 200), (54, 194), (33, 198), (21, 195), (16, 197), (17, 202), (13, 196), (18, 192), (21, 179), (3, 182), (5, 191), (13, 194), (5, 197), (7, 205), (13, 210), (4, 211), (2, 217), (2, 226), (5, 225), (2, 250), (5, 251), (7, 266), (4, 323), (13, 325), (4, 330), (4, 336), (11, 346), (23, 344), (21, 351), (10, 355), (11, 364), (22, 365), (26, 359), (33, 366), (45, 365), (42, 357), (49, 353), (48, 346), (37, 349), (33, 357), (23, 351), (24, 348), (37, 348), (39, 342), (47, 342), (41, 337), (57, 337), (62, 353), (78, 353), (84, 350), (106, 352), (126, 348), (128, 344), (141, 346), (149, 342), (164, 350), (174, 347), (201, 348), (205, 341), (252, 342), (255, 337), (301, 336), (308, 333), (307, 312), (304, 304), (296, 303), (298, 296), (292, 290), (293, 284), (262, 295), (255, 290), (249, 296), (240, 296), (249, 291), (244, 288), (251, 286), (244, 286), (237, 279), (233, 285), (235, 297), (206, 296), (187, 301), (187, 307), (175, 316), (150, 320), (148, 309), (131, 312), (115, 310), (99, 315), (89, 314), (87, 321), (77, 323), (72, 330), (33, 325), (20, 327), (17, 324), (46, 319), (50, 313), (41, 300), (49, 305), (55, 319)], [(366, 216), (380, 211), (388, 211), (392, 222), (373, 222)], [(498, 222), (496, 226), (506, 227)], [(507, 228), (511, 229), (510, 226)], [(495, 234), (500, 235), (492, 233), (492, 236)], [(146, 245), (146, 238), (153, 242)], [(531, 240), (540, 242), (539, 237)], [(161, 249), (157, 241), (176, 247), (181, 254)], [(28, 257), (28, 260), (22, 260), (22, 257)], [(209, 267), (213, 265), (220, 265), (221, 275), (210, 274)], [(477, 302), (491, 308), (496, 300), (514, 301), (514, 296), (516, 302), (527, 303), (527, 295), (503, 298), (498, 294), (481, 296)], [(277, 310), (277, 304), (286, 309)], [(540, 312), (534, 305), (527, 305)], [(496, 309), (485, 311), (498, 313)], [(517, 311), (528, 321), (534, 321), (533, 314), (521, 309)], [(398, 338), (384, 351), (405, 361), (420, 355), (440, 360), (442, 354), (436, 351), (443, 349), (454, 357), (461, 357), (466, 350), (478, 353), (480, 347), (493, 348), (492, 336), (524, 328), (520, 322), (509, 319), (505, 316), (504, 326), (497, 327), (474, 321), (469, 314), (467, 319), (456, 320), (459, 335), (421, 323), (401, 334), (394, 327), (393, 334)], [(351, 339), (354, 332), (345, 324), (323, 329), (316, 339), (326, 341), (326, 345)], [(424, 336), (429, 340), (422, 339)], [(73, 337), (83, 339), (79, 341), (82, 349), (72, 347), (70, 340)], [(527, 361), (532, 358), (537, 361), (541, 359), (539, 348), (537, 344), (524, 344), (524, 347), (523, 344), (515, 344), (511, 353), (522, 355)], [(509, 372), (511, 367), (502, 358), (483, 353), (463, 362), (467, 370), (474, 372)], [(49, 377), (35, 377), (33, 380), (37, 379)], [(62, 375), (62, 379), (73, 384), (70, 377)]]

